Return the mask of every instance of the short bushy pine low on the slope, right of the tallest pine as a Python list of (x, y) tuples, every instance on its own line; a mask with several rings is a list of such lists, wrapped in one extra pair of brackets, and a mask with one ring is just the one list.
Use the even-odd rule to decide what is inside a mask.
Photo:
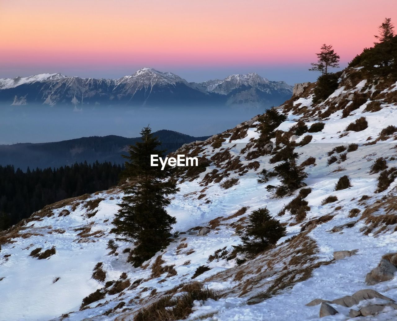
[(276, 244), (285, 233), (285, 226), (274, 219), (267, 208), (260, 208), (248, 215), (247, 227), (239, 231), (242, 244), (235, 246), (235, 249), (253, 256)]

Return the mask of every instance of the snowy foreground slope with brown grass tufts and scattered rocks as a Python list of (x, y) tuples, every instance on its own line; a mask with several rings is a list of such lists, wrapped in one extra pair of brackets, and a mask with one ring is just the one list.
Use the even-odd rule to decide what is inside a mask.
[[(217, 301), (195, 302), (188, 320), (316, 320), (321, 301), (307, 305), (315, 299), (328, 301), (339, 312), (322, 320), (346, 320), (359, 310), (363, 316), (354, 320), (396, 319), (392, 301), (397, 300), (397, 278), (366, 284), (366, 275), (382, 257), (393, 261), (385, 254), (397, 252), (397, 182), (392, 175), (397, 131), (382, 131), (397, 119), (397, 83), (357, 80), (355, 73), (345, 71), (339, 89), (319, 105), (312, 104), (315, 84), (308, 84), (281, 106), (288, 119), (278, 126), (270, 147), (263, 148), (258, 140), (261, 117), (255, 117), (178, 150), (197, 155), (206, 165), (179, 170), (181, 190), (167, 209), (176, 217), (173, 232), (179, 234), (139, 268), (126, 261), (131, 244), (118, 242), (118, 255), (106, 249), (115, 238), (109, 231), (123, 196), (118, 188), (52, 204), (0, 234), (0, 320), (132, 320), (165, 294), (180, 295), (182, 284), (191, 281), (222, 295)], [(361, 117), (366, 128), (346, 131)], [(292, 127), (302, 122), (308, 128), (324, 123), (324, 128), (302, 134)], [(278, 185), (278, 178), (257, 182), (261, 169), (278, 164), (270, 159), (287, 141), (294, 142), (308, 173), (306, 188), (311, 189), (304, 198), (310, 210), (299, 216), (286, 208), (299, 190), (276, 198), (266, 185)], [(380, 180), (389, 183), (382, 191), (377, 185), (384, 171), (371, 171), (380, 157), (391, 173)], [(335, 190), (344, 175), (351, 187)], [(222, 188), (225, 178), (238, 183)], [(330, 196), (337, 199), (324, 202)], [(244, 227), (248, 213), (265, 206), (285, 224), (287, 236), (238, 265), (232, 255), (232, 246), (240, 241), (236, 231)], [(201, 227), (209, 233), (192, 233)], [(43, 253), (52, 246), (56, 253), (46, 259), (29, 256), (36, 248)], [(92, 276), (100, 262), (106, 274), (96, 280)], [(192, 280), (202, 265), (209, 270)], [(106, 284), (112, 280), (116, 283)], [(97, 289), (99, 300), (81, 306)], [(354, 300), (336, 300), (368, 289), (378, 297), (364, 291)], [(376, 315), (364, 316), (368, 309), (377, 309)]]

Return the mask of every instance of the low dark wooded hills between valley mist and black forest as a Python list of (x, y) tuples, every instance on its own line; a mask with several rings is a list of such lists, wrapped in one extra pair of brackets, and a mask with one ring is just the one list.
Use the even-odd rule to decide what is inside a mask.
[[(183, 144), (206, 140), (209, 136), (193, 137), (176, 131), (160, 130), (154, 132), (162, 142), (162, 148), (167, 152), (174, 152)], [(126, 138), (122, 136), (91, 136), (61, 142), (23, 143), (0, 145), (0, 165), (13, 165), (23, 171), (30, 169), (48, 168), (72, 165), (73, 163), (94, 163), (95, 161), (110, 161), (116, 164), (125, 162), (122, 154), (127, 154), (128, 146), (138, 142), (141, 138)]]

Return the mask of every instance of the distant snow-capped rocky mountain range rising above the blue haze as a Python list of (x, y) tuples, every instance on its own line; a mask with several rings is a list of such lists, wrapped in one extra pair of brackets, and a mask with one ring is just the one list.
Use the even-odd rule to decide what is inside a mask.
[(278, 106), (292, 86), (257, 73), (203, 83), (152, 68), (119, 79), (69, 77), (61, 73), (0, 79), (0, 103), (7, 105)]

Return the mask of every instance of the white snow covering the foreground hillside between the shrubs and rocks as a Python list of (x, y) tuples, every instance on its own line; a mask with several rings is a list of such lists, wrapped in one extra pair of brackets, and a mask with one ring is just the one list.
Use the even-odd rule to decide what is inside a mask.
[[(150, 71), (145, 69), (143, 72)], [(352, 90), (363, 88), (365, 83), (360, 82)], [(349, 94), (343, 87), (337, 90), (336, 95)], [(331, 95), (332, 96), (332, 95)], [(334, 95), (335, 96), (335, 95)], [(297, 103), (310, 106), (311, 98), (300, 98)], [(307, 105), (306, 105), (307, 104)], [(185, 181), (179, 184), (180, 192), (175, 194), (167, 210), (170, 215), (175, 216), (177, 223), (173, 225), (173, 233), (179, 232), (175, 240), (164, 250), (159, 252), (154, 258), (143, 264), (143, 267), (133, 268), (126, 262), (128, 254), (123, 253), (125, 248), (131, 248), (131, 244), (118, 242), (118, 256), (109, 255), (106, 244), (109, 239), (114, 239), (115, 235), (110, 233), (112, 219), (118, 211), (118, 203), (123, 194), (119, 190), (101, 192), (93, 198), (104, 198), (99, 203), (96, 210), (98, 212), (91, 218), (87, 217), (87, 209), (83, 204), (77, 206), (72, 211), (72, 204), (54, 210), (54, 215), (47, 217), (37, 217), (36, 220), (26, 223), (23, 233), (34, 233), (26, 238), (18, 237), (15, 243), (2, 244), (0, 256), (0, 320), (49, 320), (59, 318), (64, 313), (69, 313), (67, 320), (114, 320), (117, 317), (128, 319), (123, 316), (123, 309), (128, 309), (128, 313), (133, 313), (145, 305), (150, 304), (159, 298), (165, 291), (171, 290), (181, 283), (192, 281), (191, 277), (196, 269), (201, 265), (210, 267), (195, 281), (202, 282), (208, 288), (221, 290), (227, 294), (218, 301), (207, 300), (206, 302), (195, 302), (193, 313), (188, 320), (202, 317), (207, 321), (228, 321), (228, 320), (318, 320), (320, 306), (308, 307), (306, 304), (315, 298), (324, 300), (334, 300), (346, 295), (352, 295), (357, 290), (372, 288), (389, 298), (397, 300), (397, 278), (387, 282), (368, 286), (365, 284), (365, 276), (376, 267), (382, 255), (390, 252), (397, 252), (397, 232), (394, 225), (391, 229), (386, 229), (384, 233), (372, 233), (364, 235), (360, 229), (366, 225), (365, 219), (360, 219), (364, 210), (374, 204), (381, 202), (383, 197), (392, 197), (395, 190), (393, 183), (388, 190), (375, 193), (377, 178), (379, 174), (370, 174), (370, 167), (378, 157), (388, 157), (387, 165), (389, 168), (397, 166), (397, 160), (391, 157), (397, 156), (397, 150), (392, 148), (395, 145), (393, 138), (385, 142), (377, 142), (373, 145), (364, 146), (368, 142), (369, 136), (376, 139), (387, 125), (393, 125), (397, 117), (395, 104), (383, 104), (382, 110), (373, 113), (364, 113), (365, 104), (355, 113), (341, 119), (341, 113), (336, 112), (330, 119), (324, 119), (324, 130), (318, 133), (310, 133), (313, 136), (312, 142), (305, 146), (298, 146), (296, 151), (300, 155), (299, 162), (308, 157), (316, 158), (316, 165), (305, 168), (308, 173), (306, 184), (312, 192), (306, 197), (310, 206), (303, 223), (312, 219), (317, 219), (324, 215), (334, 215), (333, 218), (317, 225), (307, 234), (307, 238), (313, 240), (316, 251), (312, 254), (311, 263), (302, 263), (303, 268), (310, 268), (314, 263), (321, 262), (311, 273), (311, 276), (281, 289), (276, 295), (264, 300), (263, 302), (248, 305), (247, 300), (260, 292), (266, 292), (268, 287), (274, 282), (279, 273), (285, 269), (293, 271), (290, 260), (294, 254), (285, 257), (278, 257), (279, 261), (272, 266), (270, 256), (278, 253), (278, 249), (289, 249), (294, 244), (283, 243), (293, 235), (301, 235), (302, 224), (296, 224), (295, 218), (287, 211), (283, 216), (277, 216), (279, 211), (290, 202), (295, 195), (285, 198), (275, 198), (271, 192), (265, 189), (267, 184), (259, 184), (257, 172), (262, 169), (271, 169), (276, 164), (270, 164), (271, 155), (261, 156), (255, 159), (260, 164), (257, 171), (250, 169), (244, 175), (231, 172), (230, 177), (239, 178), (239, 184), (225, 190), (218, 183), (210, 183), (208, 186), (200, 185), (204, 175), (214, 168), (211, 165), (206, 172), (201, 173), (198, 179)], [(365, 116), (368, 121), (368, 128), (360, 132), (348, 132), (347, 136), (341, 136), (345, 127), (357, 118)], [(302, 115), (289, 113), (288, 119), (279, 127), (279, 130), (287, 131), (297, 123)], [(316, 120), (318, 121), (318, 120)], [(307, 121), (310, 127), (316, 121)], [(252, 140), (258, 138), (256, 130), (258, 123), (254, 123), (247, 130), (247, 135), (238, 140), (229, 142), (229, 137), (216, 150), (206, 142), (198, 142), (202, 147), (200, 156), (211, 156), (219, 152), (222, 148), (228, 149), (231, 157), (240, 156), (243, 165), (251, 163), (245, 160), (245, 154), (241, 150)], [(360, 146), (355, 152), (347, 153), (347, 160), (337, 161), (328, 165), (328, 152), (335, 146), (346, 145), (356, 142)], [(193, 146), (191, 146), (193, 147)], [(245, 152), (247, 153), (247, 151)], [(337, 155), (336, 153), (334, 155)], [(227, 164), (227, 161), (218, 167)], [(345, 190), (335, 191), (335, 183), (339, 177), (348, 175), (351, 179), (351, 187)], [(278, 179), (273, 178), (268, 182), (277, 185)], [(200, 200), (198, 196), (205, 194)], [(295, 193), (296, 194), (296, 193)], [(334, 203), (322, 205), (324, 198), (337, 196), (338, 200)], [(366, 202), (359, 202), (362, 195), (370, 198)], [(209, 200), (209, 202), (206, 202)], [(282, 223), (287, 223), (288, 236), (278, 242), (278, 246), (269, 253), (262, 254), (251, 261), (238, 266), (235, 259), (227, 261), (224, 257), (209, 261), (209, 256), (213, 255), (218, 249), (226, 248), (227, 251), (233, 249), (233, 245), (240, 242), (235, 234), (236, 223), (244, 215), (230, 218), (243, 206), (248, 207), (247, 213), (258, 208), (267, 207), (270, 213)], [(340, 207), (340, 209), (336, 209)], [(357, 217), (349, 217), (349, 211), (353, 208), (360, 210)], [(59, 213), (67, 209), (70, 215), (58, 217)], [(247, 215), (245, 213), (245, 215)], [(375, 211), (373, 215), (384, 214), (384, 208)], [(40, 215), (38, 213), (37, 215)], [(210, 226), (210, 221), (219, 218), (218, 227), (210, 230), (205, 236), (189, 235), (189, 230), (194, 227)], [(330, 232), (334, 226), (357, 221), (351, 228), (345, 228), (341, 233)], [(33, 226), (31, 226), (33, 224)], [(91, 243), (77, 243), (78, 233), (81, 228), (91, 226), (90, 233), (102, 231), (97, 235), (88, 236)], [(80, 229), (80, 230), (77, 230)], [(64, 233), (60, 233), (65, 230)], [(50, 233), (51, 232), (51, 233)], [(179, 247), (181, 244), (186, 246)], [(292, 244), (292, 245), (291, 245)], [(55, 246), (56, 254), (48, 259), (38, 260), (29, 257), (29, 253), (37, 248), (43, 249)], [(334, 251), (355, 250), (356, 255), (338, 261), (328, 263)], [(293, 252), (295, 253), (295, 252)], [(10, 255), (4, 258), (4, 255)], [(152, 277), (151, 266), (158, 255), (162, 255), (164, 266), (173, 266), (176, 275), (168, 276), (164, 273), (160, 277)], [(106, 280), (117, 280), (119, 275), (126, 272), (131, 283), (139, 279), (143, 280), (135, 288), (127, 288), (122, 294), (106, 295), (106, 298), (89, 305), (89, 309), (79, 311), (82, 299), (102, 288), (104, 283), (91, 278), (93, 268), (98, 262), (103, 262), (103, 269), (106, 271)], [(268, 268), (269, 266), (269, 268)], [(270, 268), (271, 267), (271, 268)], [(245, 272), (242, 283), (234, 278), (237, 271)], [(257, 275), (252, 275), (250, 271), (260, 270), (264, 275), (252, 289), (241, 294), (241, 288), (245, 283), (249, 284)], [(272, 275), (272, 273), (275, 273)], [(60, 277), (56, 283), (52, 283), (55, 277)], [(165, 280), (165, 281), (163, 281)], [(158, 297), (153, 297), (150, 293), (153, 289), (159, 293)], [(241, 295), (240, 295), (241, 294)], [(113, 309), (119, 302), (125, 302), (122, 309), (118, 309), (108, 315), (105, 311)], [(370, 302), (360, 302), (357, 306), (345, 308), (336, 304), (331, 304), (339, 313), (334, 316), (323, 318), (322, 320), (346, 320), (349, 309), (360, 309), (368, 303), (382, 302), (371, 300)], [(23, 309), (21, 309), (23, 304)], [(397, 317), (395, 310), (381, 313), (376, 317), (360, 318), (360, 320), (385, 320)]]

